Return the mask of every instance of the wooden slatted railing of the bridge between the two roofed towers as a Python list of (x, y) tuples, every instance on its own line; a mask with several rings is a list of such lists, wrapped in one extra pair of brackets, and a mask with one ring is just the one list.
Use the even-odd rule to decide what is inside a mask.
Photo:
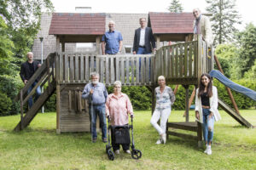
[(126, 86), (150, 85), (154, 82), (154, 55), (151, 54), (60, 53), (56, 56), (55, 63), (59, 83), (87, 83), (90, 81), (90, 73), (94, 71), (100, 74), (100, 82), (107, 86), (116, 80)]

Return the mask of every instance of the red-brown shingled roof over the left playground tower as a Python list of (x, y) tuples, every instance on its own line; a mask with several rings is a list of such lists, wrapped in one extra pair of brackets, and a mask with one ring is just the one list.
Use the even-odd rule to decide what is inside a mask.
[(54, 13), (49, 35), (103, 35), (105, 20), (104, 13)]

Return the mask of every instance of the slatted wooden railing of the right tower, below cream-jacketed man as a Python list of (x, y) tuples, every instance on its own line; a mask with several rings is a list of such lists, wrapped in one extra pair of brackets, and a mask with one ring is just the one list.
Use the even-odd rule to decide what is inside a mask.
[(155, 56), (154, 80), (160, 75), (174, 84), (197, 84), (203, 72), (213, 67), (213, 49), (201, 41), (163, 46)]

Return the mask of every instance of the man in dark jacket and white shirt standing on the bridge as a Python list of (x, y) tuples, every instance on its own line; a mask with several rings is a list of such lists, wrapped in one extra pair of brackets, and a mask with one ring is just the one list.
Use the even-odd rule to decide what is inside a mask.
[(140, 18), (141, 27), (135, 31), (133, 41), (133, 54), (151, 54), (155, 50), (155, 40), (150, 27), (146, 27), (145, 18)]

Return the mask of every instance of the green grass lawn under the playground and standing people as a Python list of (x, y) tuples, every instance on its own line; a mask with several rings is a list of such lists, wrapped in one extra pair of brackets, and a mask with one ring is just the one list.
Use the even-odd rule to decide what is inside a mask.
[[(154, 144), (158, 134), (150, 125), (150, 111), (136, 111), (136, 148), (143, 157), (133, 160), (121, 152), (108, 161), (105, 144), (90, 142), (90, 133), (55, 133), (55, 113), (38, 114), (19, 133), (13, 128), (20, 116), (0, 117), (0, 169), (256, 169), (256, 128), (241, 127), (220, 111), (215, 123), (212, 156), (197, 148), (194, 140), (170, 136), (166, 144)], [(256, 110), (241, 111), (254, 126)], [(195, 121), (190, 111), (190, 121)], [(183, 111), (172, 111), (169, 122), (184, 121)]]

